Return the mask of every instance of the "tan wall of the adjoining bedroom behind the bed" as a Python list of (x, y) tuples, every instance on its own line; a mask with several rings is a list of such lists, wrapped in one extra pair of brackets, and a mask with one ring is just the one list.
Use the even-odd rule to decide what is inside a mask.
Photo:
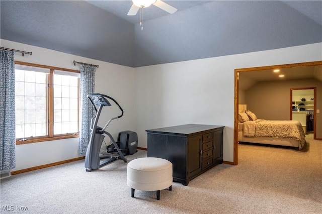
[(322, 139), (322, 82), (315, 79), (259, 82), (246, 93), (247, 109), (259, 119), (290, 120), (290, 88), (316, 87), (316, 138)]

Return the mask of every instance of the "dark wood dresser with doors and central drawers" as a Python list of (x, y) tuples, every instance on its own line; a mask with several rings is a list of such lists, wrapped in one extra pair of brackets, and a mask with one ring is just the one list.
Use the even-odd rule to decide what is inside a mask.
[(187, 124), (150, 129), (147, 157), (159, 157), (173, 164), (173, 180), (189, 181), (222, 163), (224, 126)]

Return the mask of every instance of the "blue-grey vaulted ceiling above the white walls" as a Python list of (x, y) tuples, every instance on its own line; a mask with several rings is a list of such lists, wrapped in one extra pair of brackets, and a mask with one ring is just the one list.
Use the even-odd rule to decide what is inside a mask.
[[(322, 1), (3, 1), (1, 39), (140, 67), (322, 42)], [(10, 48), (10, 47), (7, 47)]]

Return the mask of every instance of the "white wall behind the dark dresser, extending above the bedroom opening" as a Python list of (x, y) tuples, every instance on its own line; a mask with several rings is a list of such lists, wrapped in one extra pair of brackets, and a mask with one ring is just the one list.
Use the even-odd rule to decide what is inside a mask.
[(322, 60), (322, 43), (135, 69), (136, 128), (222, 125), (223, 160), (233, 161), (234, 69)]

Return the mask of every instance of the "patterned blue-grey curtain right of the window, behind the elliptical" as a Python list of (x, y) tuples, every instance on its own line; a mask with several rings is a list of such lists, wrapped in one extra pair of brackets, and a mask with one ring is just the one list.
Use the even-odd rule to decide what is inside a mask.
[(81, 65), (81, 130), (79, 133), (79, 154), (85, 154), (91, 138), (91, 119), (96, 112), (87, 98), (87, 94), (94, 93), (95, 67)]

